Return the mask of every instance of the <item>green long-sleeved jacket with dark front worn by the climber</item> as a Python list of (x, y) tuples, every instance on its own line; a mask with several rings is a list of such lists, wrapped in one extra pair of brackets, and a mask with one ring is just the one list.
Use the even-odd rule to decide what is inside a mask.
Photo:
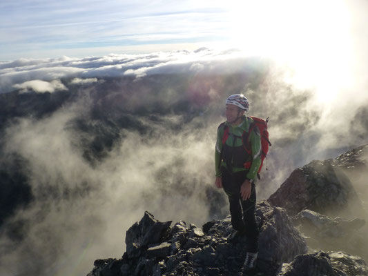
[[(229, 122), (225, 122), (224, 124), (220, 124), (220, 126), (217, 128), (217, 141), (216, 141), (216, 148), (215, 148), (215, 170), (216, 170), (216, 177), (221, 177), (221, 170), (220, 170), (220, 162), (221, 166), (224, 166), (225, 168), (231, 168), (232, 172), (240, 172), (244, 170), (249, 170), (248, 174), (246, 175), (246, 178), (248, 179), (255, 179), (257, 176), (258, 169), (260, 168), (261, 164), (261, 138), (260, 138), (260, 131), (258, 128), (253, 128), (253, 131), (251, 131), (251, 134), (249, 136), (249, 142), (251, 146), (251, 154), (248, 157), (248, 161), (251, 161), (250, 168), (244, 168), (242, 166), (233, 166), (233, 164), (226, 164), (224, 161), (224, 158), (221, 158), (221, 152), (222, 152), (222, 137), (224, 136), (224, 128), (225, 126), (229, 127), (229, 137), (226, 139), (226, 146), (229, 149), (229, 147), (240, 147), (242, 146), (242, 139), (240, 138), (244, 131), (248, 132), (249, 125), (253, 122), (253, 119), (249, 117), (245, 117), (245, 115), (242, 117), (242, 123), (238, 126), (232, 126)], [(238, 136), (234, 137), (233, 135)], [(222, 156), (223, 157), (223, 156)], [(229, 166), (230, 165), (230, 166)], [(228, 169), (229, 169), (228, 168)]]

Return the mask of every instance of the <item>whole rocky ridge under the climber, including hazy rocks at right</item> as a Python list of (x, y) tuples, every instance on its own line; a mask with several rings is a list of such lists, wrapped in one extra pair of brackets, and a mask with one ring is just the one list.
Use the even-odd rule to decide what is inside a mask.
[[(298, 168), (267, 201), (257, 203), (260, 244), (253, 275), (368, 275), (365, 260), (357, 256), (365, 253), (365, 235), (359, 231), (365, 219), (331, 217), (349, 217), (362, 208), (345, 170), (367, 168), (366, 149)], [(202, 228), (185, 221), (171, 224), (146, 212), (128, 229), (123, 257), (95, 261), (88, 276), (248, 275), (242, 272), (246, 238), (228, 240), (229, 216)]]

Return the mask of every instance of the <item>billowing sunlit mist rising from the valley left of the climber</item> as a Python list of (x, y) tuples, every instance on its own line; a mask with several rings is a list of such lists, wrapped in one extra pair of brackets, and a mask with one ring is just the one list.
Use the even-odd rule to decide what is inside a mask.
[[(3, 274), (86, 274), (94, 259), (122, 254), (124, 233), (144, 210), (159, 219), (198, 225), (209, 216), (206, 187), (213, 177), (207, 157), (213, 145), (206, 130), (191, 132), (182, 116), (158, 121), (142, 117), (139, 121), (149, 134), (120, 130), (124, 139), (91, 166), (78, 146), (83, 133), (71, 127), (88, 114), (84, 104), (41, 120), (21, 119), (6, 130), (6, 152), (18, 152), (29, 161), (26, 170), (35, 201), (3, 226), (23, 221), (27, 229), (27, 242), (19, 246), (2, 236), (3, 248), (12, 248), (0, 251), (1, 264), (8, 263), (1, 265)], [(170, 125), (182, 130), (167, 128)], [(21, 259), (26, 260), (23, 265), (15, 266)]]

